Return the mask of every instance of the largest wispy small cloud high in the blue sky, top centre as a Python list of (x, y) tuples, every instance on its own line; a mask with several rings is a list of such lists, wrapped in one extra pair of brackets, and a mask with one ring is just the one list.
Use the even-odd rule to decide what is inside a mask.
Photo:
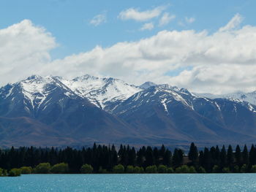
[(140, 12), (138, 9), (129, 8), (120, 12), (118, 18), (120, 18), (121, 20), (146, 21), (152, 18), (157, 18), (165, 9), (165, 6), (159, 6), (154, 9)]

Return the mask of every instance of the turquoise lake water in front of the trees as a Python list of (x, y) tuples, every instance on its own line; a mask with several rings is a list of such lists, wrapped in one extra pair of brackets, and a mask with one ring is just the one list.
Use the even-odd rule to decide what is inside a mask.
[(29, 174), (0, 177), (0, 191), (256, 191), (256, 174)]

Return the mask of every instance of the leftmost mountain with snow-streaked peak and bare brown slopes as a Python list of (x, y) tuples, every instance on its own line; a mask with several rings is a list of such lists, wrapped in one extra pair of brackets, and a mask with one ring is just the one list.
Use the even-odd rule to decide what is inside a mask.
[[(126, 123), (78, 96), (56, 77), (32, 76), (1, 88), (0, 93), (1, 118), (12, 118), (15, 122), (18, 119), (14, 118), (26, 117), (31, 125), (29, 127), (50, 128), (60, 138), (86, 143), (118, 142), (124, 137), (135, 137)], [(20, 126), (22, 124), (24, 126)], [(26, 132), (26, 123), (20, 125), (12, 127), (15, 131), (23, 128)], [(1, 127), (7, 130), (10, 123), (3, 123)]]

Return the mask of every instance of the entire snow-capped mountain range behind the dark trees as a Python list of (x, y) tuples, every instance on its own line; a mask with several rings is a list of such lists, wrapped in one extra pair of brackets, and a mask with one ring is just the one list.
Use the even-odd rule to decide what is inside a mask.
[(256, 92), (222, 96), (86, 74), (0, 88), (0, 146), (251, 144)]

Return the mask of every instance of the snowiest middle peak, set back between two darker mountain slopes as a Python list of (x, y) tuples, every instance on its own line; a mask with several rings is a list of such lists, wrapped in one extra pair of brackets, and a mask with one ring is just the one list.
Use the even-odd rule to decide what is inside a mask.
[(72, 80), (60, 78), (60, 81), (79, 96), (89, 99), (97, 107), (108, 111), (113, 110), (111, 107), (113, 103), (124, 101), (129, 96), (142, 90), (122, 80), (112, 77), (99, 78), (89, 74), (76, 77)]

